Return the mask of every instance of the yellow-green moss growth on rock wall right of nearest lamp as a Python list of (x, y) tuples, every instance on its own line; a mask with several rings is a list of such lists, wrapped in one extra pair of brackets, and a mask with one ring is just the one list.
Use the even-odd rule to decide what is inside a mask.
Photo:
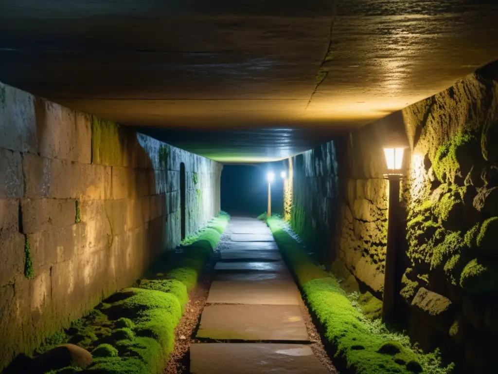
[[(477, 266), (475, 260), (467, 264), (465, 261), (469, 261), (475, 252), (489, 254), (494, 251), (497, 231), (488, 230), (488, 226), (498, 222), (496, 217), (480, 222), (482, 214), (476, 211), (474, 196), (478, 188), (473, 184), (477, 182), (471, 184), (469, 175), (475, 167), (472, 162), (481, 166), (484, 162), (476, 151), (478, 145), (476, 134), (461, 131), (439, 146), (431, 168), (440, 185), (428, 189), (429, 195), (418, 196), (423, 202), (411, 206), (407, 222), (407, 254), (412, 267), (427, 263), (430, 270), (442, 268), (448, 282), (474, 294), (481, 293), (479, 287), (484, 285), (479, 279), (489, 272), (491, 265)], [(426, 183), (433, 184), (433, 181), (429, 178)], [(467, 216), (472, 219), (466, 219)], [(430, 279), (426, 283), (429, 284)], [(490, 284), (494, 283), (490, 279)], [(404, 292), (403, 296), (408, 294)]]

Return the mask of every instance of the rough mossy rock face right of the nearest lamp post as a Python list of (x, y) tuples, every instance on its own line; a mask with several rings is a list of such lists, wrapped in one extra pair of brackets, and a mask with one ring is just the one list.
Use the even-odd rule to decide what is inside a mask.
[(486, 318), (498, 294), (497, 109), (495, 63), (403, 110), (411, 147), (403, 194), (411, 264), (401, 294), (411, 305), (410, 287), (451, 301), (447, 320), (431, 328), (453, 338), (471, 372), (491, 358), (472, 343), (477, 334), (484, 346), (497, 338)]

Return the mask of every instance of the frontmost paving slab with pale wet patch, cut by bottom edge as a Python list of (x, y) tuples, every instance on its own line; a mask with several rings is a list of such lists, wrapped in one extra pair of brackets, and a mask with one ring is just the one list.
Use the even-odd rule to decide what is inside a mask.
[(325, 374), (329, 371), (309, 346), (206, 343), (190, 347), (190, 373)]

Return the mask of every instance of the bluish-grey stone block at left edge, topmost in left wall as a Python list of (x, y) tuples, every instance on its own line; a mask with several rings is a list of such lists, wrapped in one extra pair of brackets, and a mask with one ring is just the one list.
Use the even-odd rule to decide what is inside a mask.
[(33, 96), (0, 83), (0, 148), (37, 152)]

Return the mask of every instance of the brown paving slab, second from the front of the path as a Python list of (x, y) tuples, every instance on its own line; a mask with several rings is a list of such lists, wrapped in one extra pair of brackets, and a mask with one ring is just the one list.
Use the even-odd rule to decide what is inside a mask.
[(208, 305), (196, 337), (309, 341), (297, 305)]

